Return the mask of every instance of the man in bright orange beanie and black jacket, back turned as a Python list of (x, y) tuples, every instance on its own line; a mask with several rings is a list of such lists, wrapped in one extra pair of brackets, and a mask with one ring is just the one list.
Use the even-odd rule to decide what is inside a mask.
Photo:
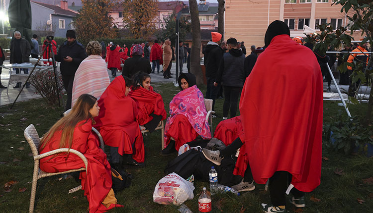
[(211, 32), (212, 41), (208, 42), (203, 50), (203, 64), (206, 68), (207, 92), (206, 99), (212, 99), (212, 109), (215, 106), (216, 96), (219, 92), (220, 85), (214, 87), (216, 74), (219, 69), (220, 61), (223, 58), (223, 49), (219, 47), (221, 42), (221, 34)]

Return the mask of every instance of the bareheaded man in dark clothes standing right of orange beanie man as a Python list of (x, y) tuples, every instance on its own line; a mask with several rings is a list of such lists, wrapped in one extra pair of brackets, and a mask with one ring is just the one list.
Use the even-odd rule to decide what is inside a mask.
[(231, 118), (236, 116), (238, 98), (247, 77), (245, 75), (245, 55), (238, 49), (237, 40), (230, 38), (227, 40), (227, 45), (228, 53), (223, 55), (223, 60), (220, 62), (216, 81), (214, 82), (215, 87), (220, 82), (223, 83), (223, 120), (227, 119), (229, 108)]

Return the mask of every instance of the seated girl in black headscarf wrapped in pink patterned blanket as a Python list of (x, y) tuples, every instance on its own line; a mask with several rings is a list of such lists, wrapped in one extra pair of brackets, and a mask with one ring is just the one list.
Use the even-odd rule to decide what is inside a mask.
[(211, 131), (206, 118), (203, 94), (195, 85), (192, 73), (179, 76), (179, 92), (170, 102), (170, 117), (165, 126), (165, 149), (161, 155), (171, 155), (175, 150), (198, 135), (204, 139), (211, 138)]

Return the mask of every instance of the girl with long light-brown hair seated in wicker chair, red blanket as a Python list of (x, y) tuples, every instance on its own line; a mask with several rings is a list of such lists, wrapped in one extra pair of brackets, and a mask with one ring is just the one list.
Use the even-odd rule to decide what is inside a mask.
[[(111, 168), (105, 153), (98, 147), (92, 133), (93, 117), (100, 107), (96, 98), (83, 94), (71, 112), (62, 117), (41, 139), (39, 153), (44, 154), (59, 148), (81, 152), (88, 161), (86, 171), (80, 173), (82, 189), (89, 202), (90, 213), (102, 213), (115, 207), (117, 200), (111, 181)], [(40, 169), (45, 172), (63, 172), (85, 167), (83, 160), (75, 154), (60, 153), (40, 160)], [(99, 178), (98, 178), (99, 177)]]

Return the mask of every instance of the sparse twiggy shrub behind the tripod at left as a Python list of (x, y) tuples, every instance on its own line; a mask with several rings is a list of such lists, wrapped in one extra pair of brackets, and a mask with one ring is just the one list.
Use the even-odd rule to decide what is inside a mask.
[(54, 77), (53, 69), (34, 71), (30, 77), (30, 83), (36, 89), (36, 94), (41, 95), (51, 106), (56, 106), (58, 103), (57, 93), (60, 96), (60, 92), (64, 88), (62, 83), (62, 76), (59, 72), (56, 72), (57, 85)]

